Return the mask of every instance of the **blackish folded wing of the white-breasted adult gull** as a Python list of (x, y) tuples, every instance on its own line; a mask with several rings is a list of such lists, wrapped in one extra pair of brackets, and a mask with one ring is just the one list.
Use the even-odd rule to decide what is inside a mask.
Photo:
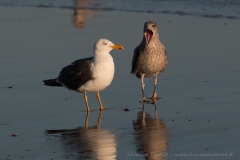
[(59, 82), (69, 89), (77, 90), (84, 83), (93, 79), (90, 71), (93, 64), (92, 59), (93, 57), (79, 59), (64, 67), (58, 76)]

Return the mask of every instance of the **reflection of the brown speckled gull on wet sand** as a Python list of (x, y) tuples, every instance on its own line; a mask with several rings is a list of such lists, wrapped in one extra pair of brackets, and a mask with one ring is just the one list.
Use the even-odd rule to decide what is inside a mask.
[(168, 130), (161, 119), (155, 102), (155, 118), (143, 110), (138, 112), (137, 120), (133, 121), (134, 135), (137, 142), (137, 152), (148, 160), (161, 160), (167, 156)]

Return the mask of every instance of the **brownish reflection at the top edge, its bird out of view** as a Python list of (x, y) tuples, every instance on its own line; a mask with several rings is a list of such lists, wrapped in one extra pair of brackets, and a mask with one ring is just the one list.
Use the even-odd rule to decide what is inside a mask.
[(74, 0), (74, 25), (78, 28), (83, 28), (85, 26), (85, 18), (91, 15), (93, 10), (84, 9), (88, 3), (93, 3), (87, 0)]

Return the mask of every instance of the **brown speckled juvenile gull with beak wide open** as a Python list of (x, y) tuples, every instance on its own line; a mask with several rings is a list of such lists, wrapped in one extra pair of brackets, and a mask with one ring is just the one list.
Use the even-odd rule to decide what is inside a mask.
[[(146, 22), (143, 28), (143, 39), (134, 49), (131, 73), (142, 80), (142, 100), (149, 102), (159, 99), (156, 92), (157, 76), (161, 74), (168, 64), (167, 53), (160, 42), (156, 22)], [(144, 97), (144, 77), (154, 77), (154, 91), (149, 98)]]

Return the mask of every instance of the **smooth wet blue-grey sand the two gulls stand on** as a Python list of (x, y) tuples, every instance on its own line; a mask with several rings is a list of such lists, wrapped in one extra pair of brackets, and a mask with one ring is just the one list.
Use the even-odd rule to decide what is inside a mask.
[[(98, 11), (79, 29), (68, 9), (0, 7), (0, 15), (0, 159), (239, 159), (239, 20)], [(143, 112), (130, 70), (148, 20), (158, 23), (169, 64), (156, 111), (145, 104)], [(88, 93), (87, 115), (83, 94), (42, 80), (91, 56), (99, 38), (125, 50), (111, 52), (106, 110)], [(153, 78), (145, 84), (150, 95)]]

